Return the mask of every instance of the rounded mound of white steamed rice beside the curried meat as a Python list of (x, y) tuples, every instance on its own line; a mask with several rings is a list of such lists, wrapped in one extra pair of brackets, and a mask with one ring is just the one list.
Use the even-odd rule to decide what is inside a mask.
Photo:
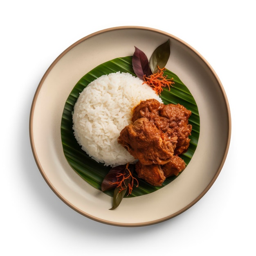
[(82, 150), (106, 166), (134, 162), (117, 138), (132, 123), (133, 108), (146, 99), (162, 103), (148, 85), (129, 73), (111, 73), (89, 83), (80, 93), (73, 113), (74, 136)]

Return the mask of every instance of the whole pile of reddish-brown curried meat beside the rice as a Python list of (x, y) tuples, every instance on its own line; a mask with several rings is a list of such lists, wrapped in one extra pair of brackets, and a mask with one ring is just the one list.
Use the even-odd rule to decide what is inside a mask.
[(138, 159), (138, 177), (161, 186), (166, 177), (178, 175), (186, 164), (178, 155), (189, 147), (191, 111), (180, 104), (164, 105), (155, 99), (135, 107), (132, 122), (118, 138), (119, 144)]

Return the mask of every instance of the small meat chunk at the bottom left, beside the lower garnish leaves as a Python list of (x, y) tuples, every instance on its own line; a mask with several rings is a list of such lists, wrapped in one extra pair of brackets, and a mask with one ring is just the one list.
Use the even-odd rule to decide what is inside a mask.
[(164, 172), (158, 164), (143, 165), (138, 161), (135, 164), (135, 171), (139, 178), (153, 186), (162, 186), (165, 180)]

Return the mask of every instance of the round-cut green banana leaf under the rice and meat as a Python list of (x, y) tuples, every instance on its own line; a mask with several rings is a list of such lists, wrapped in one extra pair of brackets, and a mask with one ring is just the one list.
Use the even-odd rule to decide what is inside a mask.
[[(78, 81), (78, 83), (76, 83), (69, 97), (67, 98), (61, 120), (61, 139), (63, 144), (63, 152), (67, 159), (67, 162), (74, 169), (74, 171), (76, 171), (76, 173), (78, 173), (86, 182), (99, 190), (101, 190), (101, 182), (103, 181), (103, 178), (109, 172), (111, 167), (104, 166), (103, 164), (95, 162), (81, 149), (74, 137), (72, 130), (72, 112), (74, 104), (79, 97), (79, 93), (91, 81), (97, 79), (99, 76), (102, 76), (104, 74), (110, 74), (118, 71), (128, 72), (135, 76), (135, 73), (132, 69), (132, 56), (115, 58), (111, 61), (107, 61), (106, 63), (95, 67), (93, 70), (85, 74)], [(180, 155), (180, 157), (184, 159), (186, 164), (189, 164), (198, 144), (198, 137), (200, 131), (198, 108), (190, 91), (188, 90), (188, 88), (186, 88), (186, 86), (182, 83), (178, 76), (170, 70), (166, 70), (164, 73), (165, 75), (168, 75), (168, 79), (173, 78), (173, 81), (175, 81), (173, 88), (171, 88), (170, 91), (168, 91), (168, 88), (164, 88), (164, 91), (160, 96), (164, 104), (180, 103), (192, 112), (192, 115), (189, 119), (190, 124), (192, 124), (190, 146), (186, 153)], [(186, 171), (186, 168), (184, 171)], [(136, 174), (135, 177), (139, 180), (139, 186), (137, 188), (133, 188), (132, 194), (128, 197), (152, 193), (168, 185), (177, 176), (168, 177), (164, 181), (162, 186), (151, 186), (144, 180), (139, 179)], [(113, 191), (105, 191), (104, 193), (113, 196)]]

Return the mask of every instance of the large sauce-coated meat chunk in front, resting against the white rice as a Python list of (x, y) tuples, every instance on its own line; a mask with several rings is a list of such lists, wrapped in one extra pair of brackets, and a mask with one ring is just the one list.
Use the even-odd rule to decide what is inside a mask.
[(117, 141), (141, 164), (166, 164), (173, 156), (177, 137), (167, 138), (142, 117), (121, 130)]

